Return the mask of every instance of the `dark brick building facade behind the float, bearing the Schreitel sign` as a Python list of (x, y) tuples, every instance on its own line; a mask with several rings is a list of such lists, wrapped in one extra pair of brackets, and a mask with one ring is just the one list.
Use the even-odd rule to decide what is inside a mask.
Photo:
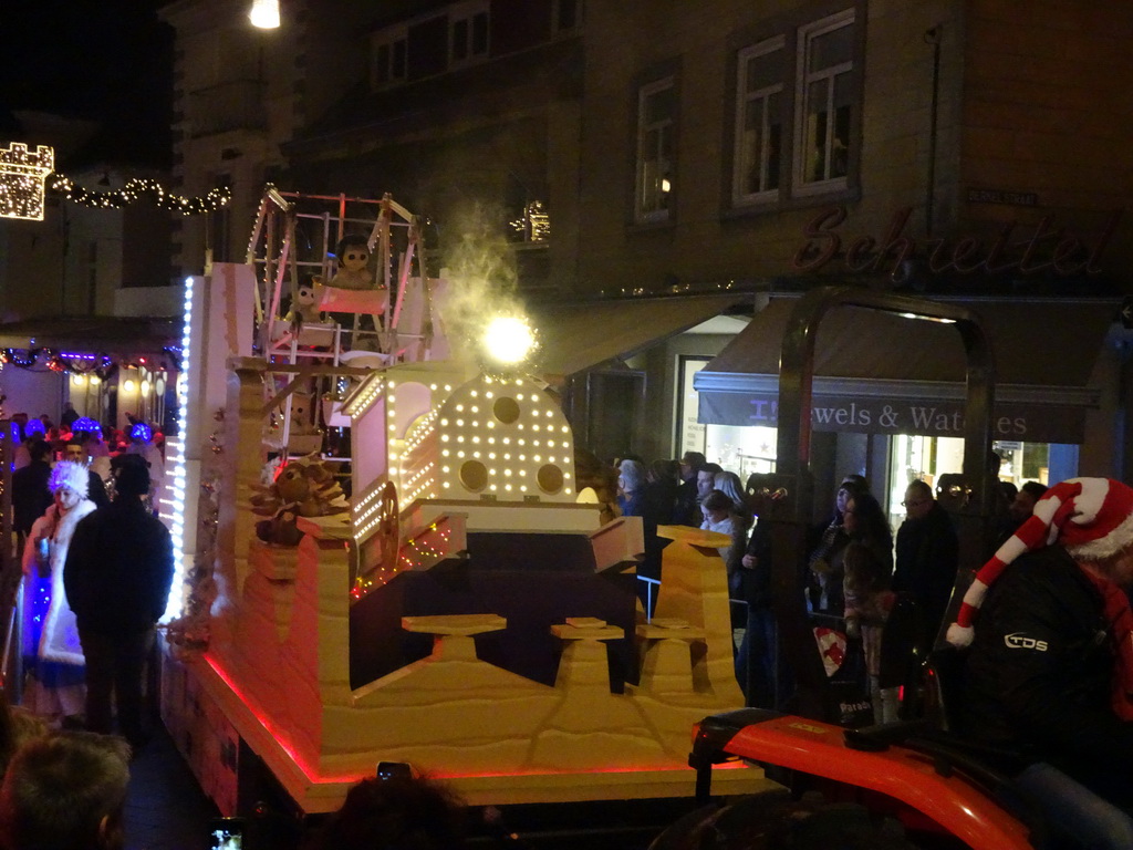
[[(437, 267), (478, 210), (510, 233), (533, 303), (634, 296), (612, 331), (627, 356), (565, 385), (578, 416), (608, 401), (595, 374), (632, 397), (619, 418), (638, 424), (594, 434), (604, 449), (628, 440), (672, 453), (679, 357), (729, 341), (662, 341), (680, 329), (649, 326), (649, 296), (693, 305), (733, 291), (750, 312), (757, 296), (850, 283), (994, 298), (1025, 316), (1028, 299), (1116, 299), (1133, 283), (1133, 215), (1121, 213), (1133, 11), (1116, 0), (1040, 11), (999, 0), (300, 1), (271, 33), (219, 9), (180, 0), (164, 11), (178, 31), (180, 178), (233, 186), (214, 255), (242, 258), (269, 179), (392, 193), (436, 224)], [(231, 95), (232, 120), (215, 125), (210, 92)], [(547, 239), (509, 230), (533, 201), (550, 214)], [(185, 221), (185, 271), (204, 244)], [(1091, 333), (1081, 345), (1100, 350)], [(1106, 460), (1126, 441), (1117, 342), (1101, 358), (1082, 471), (1124, 471)]]

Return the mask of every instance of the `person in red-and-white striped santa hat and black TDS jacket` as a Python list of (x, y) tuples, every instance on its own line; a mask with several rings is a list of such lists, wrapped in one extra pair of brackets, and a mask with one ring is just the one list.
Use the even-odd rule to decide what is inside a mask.
[(948, 641), (970, 646), (966, 737), (1090, 848), (1133, 848), (1133, 488), (1050, 487), (977, 573)]

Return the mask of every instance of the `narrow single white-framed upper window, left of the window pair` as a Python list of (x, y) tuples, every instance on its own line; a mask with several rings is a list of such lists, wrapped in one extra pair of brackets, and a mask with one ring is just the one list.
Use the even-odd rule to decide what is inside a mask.
[(673, 195), (676, 85), (665, 77), (638, 90), (636, 215), (639, 222), (666, 221)]

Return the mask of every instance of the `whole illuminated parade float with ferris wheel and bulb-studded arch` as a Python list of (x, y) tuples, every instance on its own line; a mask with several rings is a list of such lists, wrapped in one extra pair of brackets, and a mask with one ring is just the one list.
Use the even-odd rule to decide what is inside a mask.
[(688, 797), (692, 724), (743, 704), (729, 539), (663, 528), (647, 618), (537, 331), (420, 253), (389, 197), (269, 188), (248, 262), (187, 281), (163, 720), (224, 814), (264, 767), (333, 810), (378, 762), (471, 804)]

